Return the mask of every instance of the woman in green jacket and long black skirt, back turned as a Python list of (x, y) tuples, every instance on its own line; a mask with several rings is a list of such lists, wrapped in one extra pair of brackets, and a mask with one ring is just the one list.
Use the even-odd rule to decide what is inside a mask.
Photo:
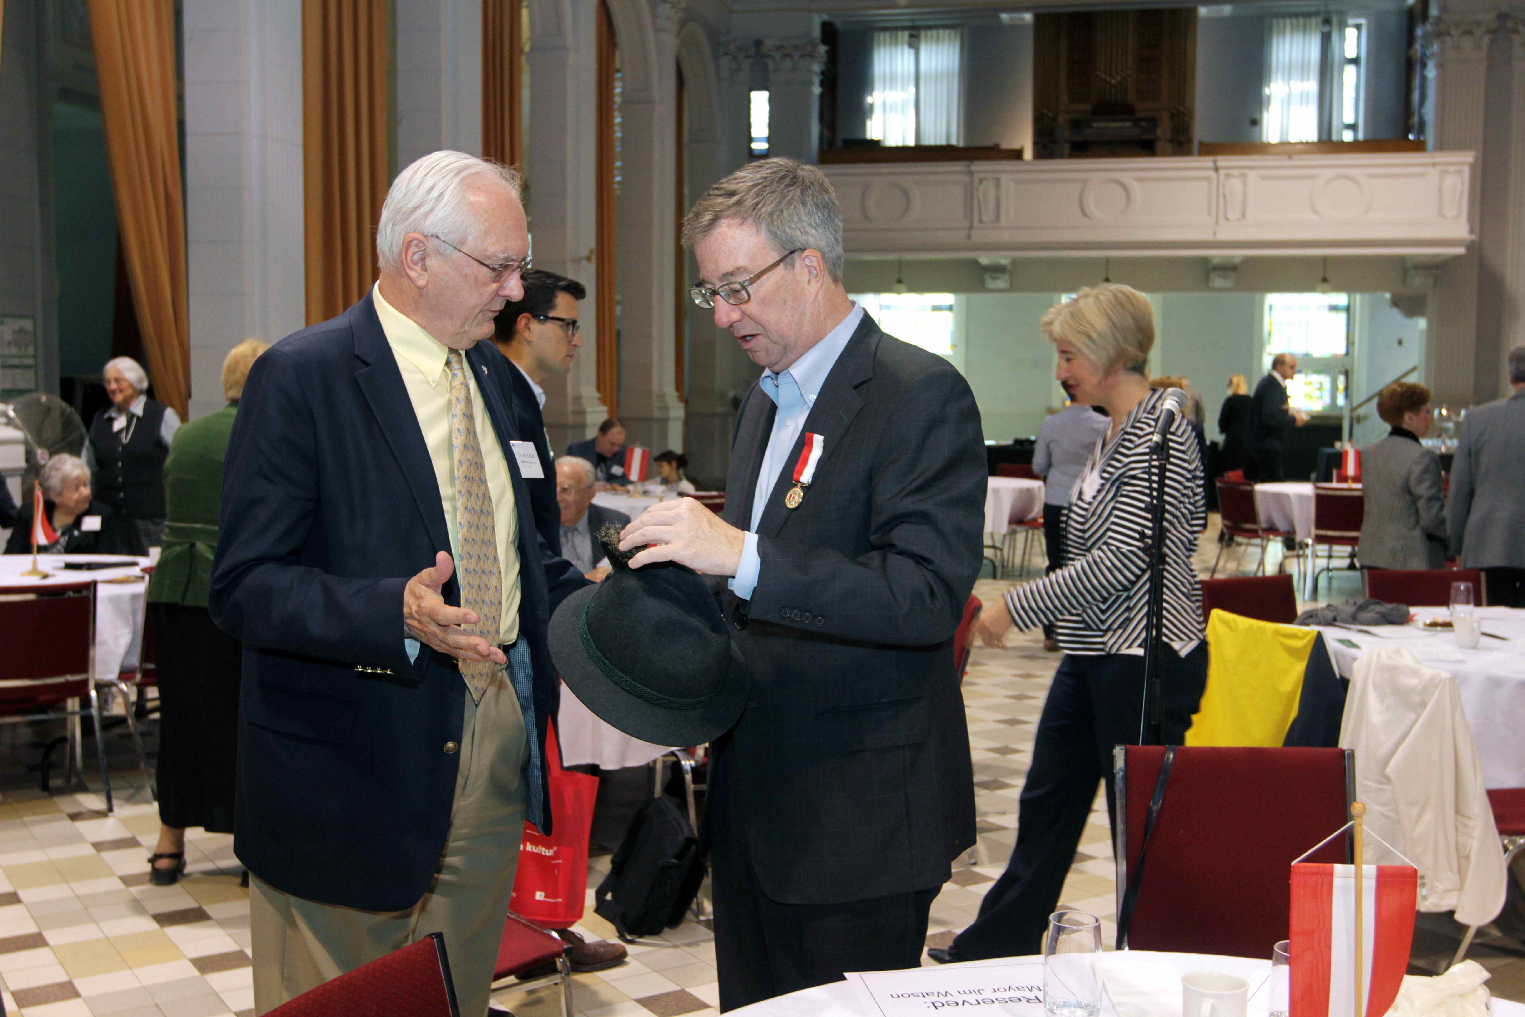
[(159, 665), (159, 845), (156, 886), (185, 872), (186, 826), (233, 833), (233, 772), (242, 646), (206, 611), (217, 550), (223, 459), (249, 367), (270, 348), (258, 338), (223, 360), (227, 406), (175, 435), (165, 462), (165, 543), (148, 581)]

